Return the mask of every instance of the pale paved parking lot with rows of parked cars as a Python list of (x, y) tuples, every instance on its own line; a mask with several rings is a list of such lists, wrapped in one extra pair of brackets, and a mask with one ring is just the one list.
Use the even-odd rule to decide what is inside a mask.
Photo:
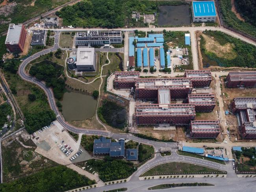
[(59, 164), (66, 165), (70, 164), (70, 162), (74, 163), (91, 159), (90, 155), (82, 149), (82, 154), (78, 155), (78, 157), (76, 156), (75, 160), (70, 160), (81, 149), (81, 137), (76, 142), (57, 121), (54, 121), (54, 125), (46, 129), (43, 128), (37, 135), (33, 135), (32, 139), (37, 145), (35, 150), (37, 153)]

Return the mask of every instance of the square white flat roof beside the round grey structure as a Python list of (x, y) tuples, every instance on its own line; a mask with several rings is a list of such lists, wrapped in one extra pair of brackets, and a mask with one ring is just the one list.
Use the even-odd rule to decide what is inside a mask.
[(76, 65), (94, 65), (94, 48), (78, 47)]

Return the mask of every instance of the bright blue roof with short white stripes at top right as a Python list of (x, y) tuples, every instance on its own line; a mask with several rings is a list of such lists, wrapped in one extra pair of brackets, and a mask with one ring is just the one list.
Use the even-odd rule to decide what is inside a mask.
[(195, 17), (216, 16), (214, 1), (193, 1)]

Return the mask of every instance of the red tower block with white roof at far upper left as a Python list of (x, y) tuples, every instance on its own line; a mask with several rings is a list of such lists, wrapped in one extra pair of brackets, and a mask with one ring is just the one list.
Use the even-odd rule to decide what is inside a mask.
[(6, 46), (10, 52), (23, 52), (27, 31), (23, 24), (10, 24), (6, 36)]

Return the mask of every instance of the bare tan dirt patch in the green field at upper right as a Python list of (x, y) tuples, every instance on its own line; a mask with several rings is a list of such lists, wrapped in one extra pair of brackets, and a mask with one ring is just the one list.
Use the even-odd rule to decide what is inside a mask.
[(219, 44), (219, 42), (214, 40), (214, 37), (209, 37), (208, 35), (202, 34), (206, 44), (205, 48), (209, 52), (213, 52), (218, 57), (223, 57), (226, 59), (234, 59), (237, 57), (236, 52), (234, 52), (234, 44), (226, 43), (224, 45)]

